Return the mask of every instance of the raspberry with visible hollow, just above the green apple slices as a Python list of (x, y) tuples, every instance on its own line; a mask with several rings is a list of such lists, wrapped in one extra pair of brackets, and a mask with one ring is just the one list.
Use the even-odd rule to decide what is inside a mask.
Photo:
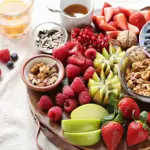
[(77, 107), (77, 101), (74, 98), (68, 98), (64, 103), (64, 110), (66, 112), (72, 112)]

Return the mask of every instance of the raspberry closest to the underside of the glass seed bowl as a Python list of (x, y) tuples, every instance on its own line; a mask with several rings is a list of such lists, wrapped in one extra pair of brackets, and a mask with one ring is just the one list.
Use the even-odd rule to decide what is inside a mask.
[(66, 46), (61, 46), (56, 49), (53, 49), (52, 55), (59, 59), (61, 62), (64, 62), (68, 58), (68, 49)]

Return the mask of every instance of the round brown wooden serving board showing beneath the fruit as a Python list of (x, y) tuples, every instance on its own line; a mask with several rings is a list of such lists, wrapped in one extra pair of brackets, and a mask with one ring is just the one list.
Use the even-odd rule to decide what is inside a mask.
[[(150, 10), (150, 7), (148, 6), (142, 8), (141, 10)], [(100, 10), (96, 10), (95, 14), (99, 14), (99, 12)], [(61, 124), (50, 121), (50, 119), (47, 116), (47, 112), (44, 112), (37, 107), (37, 103), (43, 94), (49, 95), (52, 99), (54, 99), (55, 95), (59, 91), (61, 92), (61, 87), (64, 84), (65, 85), (68, 84), (68, 81), (66, 79), (57, 89), (49, 93), (40, 93), (27, 88), (29, 107), (31, 109), (34, 118), (36, 119), (39, 125), (39, 129), (45, 134), (45, 136), (54, 145), (56, 145), (61, 150), (107, 150), (107, 147), (105, 146), (102, 139), (99, 141), (99, 143), (90, 147), (80, 147), (80, 146), (72, 145), (66, 139), (64, 139), (63, 132), (61, 129)], [(141, 110), (150, 111), (150, 103), (143, 103), (139, 101), (137, 102), (139, 103)], [(70, 118), (69, 114), (63, 113), (63, 119), (69, 119), (69, 118)], [(39, 149), (44, 150), (40, 148), (40, 146)], [(121, 143), (118, 145), (116, 150), (150, 150), (150, 138), (149, 140), (143, 142), (142, 144), (135, 145), (132, 147), (127, 147), (125, 143), (125, 139), (123, 139)]]

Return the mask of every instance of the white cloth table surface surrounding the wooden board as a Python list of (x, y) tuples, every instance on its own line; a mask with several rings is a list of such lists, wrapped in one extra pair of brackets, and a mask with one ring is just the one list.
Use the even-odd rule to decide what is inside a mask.
[[(95, 9), (102, 7), (104, 0), (94, 0)], [(113, 6), (140, 9), (150, 6), (150, 0), (107, 0)], [(59, 15), (47, 10), (47, 6), (57, 8), (58, 0), (35, 0), (32, 28), (45, 21), (59, 23)], [(20, 40), (7, 40), (0, 37), (0, 48), (17, 52), (19, 60), (13, 70), (3, 64), (0, 80), (0, 150), (38, 150), (35, 143), (37, 125), (31, 115), (27, 101), (26, 86), (20, 77), (22, 64), (37, 53), (32, 42), (31, 32)], [(41, 133), (40, 144), (44, 150), (57, 150)]]

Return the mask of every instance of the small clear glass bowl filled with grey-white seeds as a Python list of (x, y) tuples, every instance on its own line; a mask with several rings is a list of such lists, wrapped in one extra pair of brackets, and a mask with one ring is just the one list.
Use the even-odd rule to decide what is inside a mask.
[(38, 50), (45, 53), (52, 53), (54, 48), (66, 43), (68, 34), (66, 29), (60, 24), (45, 22), (35, 27), (33, 38)]

